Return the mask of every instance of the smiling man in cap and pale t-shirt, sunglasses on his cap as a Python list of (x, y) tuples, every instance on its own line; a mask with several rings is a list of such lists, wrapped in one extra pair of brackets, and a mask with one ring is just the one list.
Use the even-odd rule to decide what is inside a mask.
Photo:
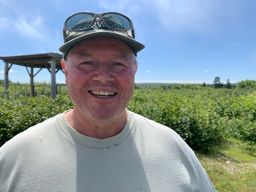
[(59, 50), (74, 109), (1, 147), (0, 191), (215, 191), (180, 136), (126, 109), (144, 48), (132, 21), (76, 13), (63, 35)]

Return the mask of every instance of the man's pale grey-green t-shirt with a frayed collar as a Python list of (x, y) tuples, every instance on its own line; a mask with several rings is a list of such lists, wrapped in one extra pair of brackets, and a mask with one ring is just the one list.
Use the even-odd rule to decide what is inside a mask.
[(18, 134), (0, 148), (0, 191), (216, 192), (177, 133), (128, 114), (107, 139), (78, 133), (64, 113)]

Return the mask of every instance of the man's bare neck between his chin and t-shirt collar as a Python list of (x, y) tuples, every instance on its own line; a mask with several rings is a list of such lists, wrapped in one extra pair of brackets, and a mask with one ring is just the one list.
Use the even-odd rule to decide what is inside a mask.
[(74, 108), (65, 113), (65, 118), (77, 132), (97, 139), (106, 139), (123, 130), (127, 123), (128, 112), (124, 110), (115, 119), (97, 120), (85, 117), (78, 109)]

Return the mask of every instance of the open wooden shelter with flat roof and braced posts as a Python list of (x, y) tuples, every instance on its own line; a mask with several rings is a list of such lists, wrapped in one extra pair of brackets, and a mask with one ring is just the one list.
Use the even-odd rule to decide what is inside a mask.
[[(43, 53), (43, 54), (31, 54), (31, 55), (13, 55), (13, 56), (1, 56), (5, 62), (5, 70), (4, 70), (4, 87), (5, 91), (9, 88), (9, 78), (8, 72), (11, 69), (11, 66), (21, 65), (26, 67), (28, 74), (30, 76), (30, 87), (31, 87), (31, 96), (34, 96), (34, 83), (33, 78), (35, 75), (39, 73), (43, 68), (48, 69), (51, 73), (51, 92), (52, 97), (56, 96), (57, 88), (56, 88), (56, 80), (55, 74), (60, 70), (64, 73), (61, 67), (61, 59), (62, 54), (58, 53)], [(11, 64), (9, 66), (9, 63)], [(30, 72), (28, 70), (30, 67)], [(39, 70), (34, 74), (34, 68), (39, 68)]]

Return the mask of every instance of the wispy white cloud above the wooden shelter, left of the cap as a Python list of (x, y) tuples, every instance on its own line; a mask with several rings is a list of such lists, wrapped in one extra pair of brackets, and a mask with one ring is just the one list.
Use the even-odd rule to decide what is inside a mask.
[(38, 49), (37, 52), (57, 52), (63, 43), (62, 35), (48, 27), (43, 10), (28, 8), (19, 1), (0, 0), (0, 7), (5, 8), (0, 8), (0, 35), (19, 36)]

